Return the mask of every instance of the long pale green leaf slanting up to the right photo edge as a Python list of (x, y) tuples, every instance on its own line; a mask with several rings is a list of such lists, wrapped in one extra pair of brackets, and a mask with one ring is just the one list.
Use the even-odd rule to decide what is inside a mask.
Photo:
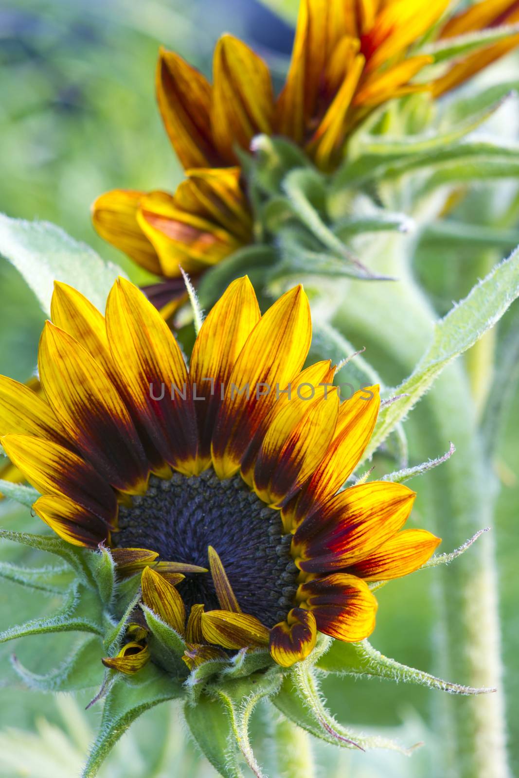
[(480, 281), (434, 328), (433, 342), (416, 370), (388, 396), (404, 394), (380, 410), (364, 458), (370, 457), (387, 435), (405, 418), (444, 368), (470, 349), (500, 320), (519, 296), (519, 250), (503, 260)]

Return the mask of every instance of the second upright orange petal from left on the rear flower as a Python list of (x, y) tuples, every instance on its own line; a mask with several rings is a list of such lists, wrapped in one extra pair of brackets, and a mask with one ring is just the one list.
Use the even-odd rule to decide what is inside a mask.
[(235, 145), (248, 149), (254, 135), (272, 135), (270, 71), (243, 41), (226, 34), (216, 44), (213, 84), (212, 135), (222, 158), (237, 163)]

